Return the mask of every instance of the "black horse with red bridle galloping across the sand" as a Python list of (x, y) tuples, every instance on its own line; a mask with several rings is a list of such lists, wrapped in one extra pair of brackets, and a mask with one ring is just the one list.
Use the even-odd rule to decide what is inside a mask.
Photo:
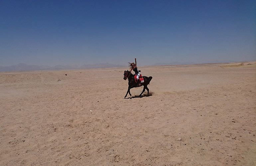
[(151, 76), (150, 77), (142, 76), (142, 77), (144, 79), (144, 82), (138, 84), (138, 83), (135, 82), (134, 75), (130, 71), (128, 71), (128, 70), (124, 71), (124, 80), (128, 79), (128, 90), (127, 90), (127, 93), (126, 93), (124, 98), (126, 98), (128, 93), (129, 93), (130, 96), (132, 96), (131, 92), (130, 92), (131, 88), (140, 87), (142, 85), (144, 86), (144, 88), (143, 88), (143, 91), (141, 92), (141, 94), (139, 95), (139, 97), (141, 97), (141, 95), (145, 92), (145, 89), (147, 89), (148, 96), (149, 96), (149, 89), (148, 89), (147, 86), (150, 83), (152, 77)]

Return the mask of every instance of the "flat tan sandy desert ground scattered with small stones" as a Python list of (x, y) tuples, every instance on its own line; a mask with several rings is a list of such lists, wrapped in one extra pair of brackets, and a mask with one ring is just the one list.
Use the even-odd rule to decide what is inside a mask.
[(255, 62), (125, 69), (0, 72), (0, 165), (256, 165)]

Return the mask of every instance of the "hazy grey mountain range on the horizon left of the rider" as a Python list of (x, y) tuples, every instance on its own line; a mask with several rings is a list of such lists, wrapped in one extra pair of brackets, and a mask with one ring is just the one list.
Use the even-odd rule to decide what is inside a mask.
[(69, 66), (69, 65), (40, 66), (40, 65), (28, 65), (25, 63), (19, 63), (12, 66), (0, 66), (0, 71), (68, 70), (68, 69), (91, 69), (91, 68), (112, 68), (112, 67), (124, 67), (124, 66), (110, 64), (110, 63), (84, 64), (82, 66)]

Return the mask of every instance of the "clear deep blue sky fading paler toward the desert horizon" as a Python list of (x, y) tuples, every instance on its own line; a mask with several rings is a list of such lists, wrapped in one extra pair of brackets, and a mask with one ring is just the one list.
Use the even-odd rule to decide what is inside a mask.
[(256, 1), (1, 0), (0, 66), (256, 60)]

